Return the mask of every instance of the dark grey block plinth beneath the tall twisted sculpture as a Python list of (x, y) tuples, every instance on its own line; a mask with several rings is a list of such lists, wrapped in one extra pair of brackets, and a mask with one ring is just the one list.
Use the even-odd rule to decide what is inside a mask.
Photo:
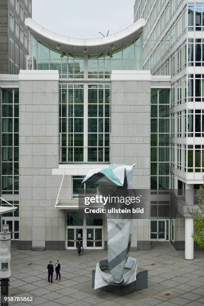
[[(94, 288), (95, 283), (95, 270), (92, 270), (92, 287)], [(111, 292), (116, 295), (127, 295), (135, 291), (148, 287), (148, 270), (141, 269), (136, 275), (136, 280), (128, 285), (107, 285), (101, 288), (101, 290)]]

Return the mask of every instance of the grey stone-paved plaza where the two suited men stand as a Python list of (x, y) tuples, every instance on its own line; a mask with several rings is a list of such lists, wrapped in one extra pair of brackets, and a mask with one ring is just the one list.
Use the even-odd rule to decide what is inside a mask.
[[(10, 302), (12, 305), (70, 306), (142, 306), (204, 304), (204, 251), (195, 251), (194, 260), (185, 260), (183, 251), (175, 251), (170, 242), (152, 243), (150, 251), (130, 255), (139, 266), (148, 269), (148, 288), (126, 296), (117, 296), (91, 287), (91, 270), (103, 250), (29, 251), (12, 249), (10, 296), (33, 296), (34, 302)], [(47, 263), (58, 259), (61, 281), (47, 282)], [(55, 276), (55, 274), (54, 274)], [(53, 277), (55, 278), (55, 277)]]

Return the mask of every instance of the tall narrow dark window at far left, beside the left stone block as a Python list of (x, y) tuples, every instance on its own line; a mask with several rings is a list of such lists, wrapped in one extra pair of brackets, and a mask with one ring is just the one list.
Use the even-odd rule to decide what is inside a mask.
[(2, 89), (2, 194), (18, 194), (18, 101), (18, 89)]

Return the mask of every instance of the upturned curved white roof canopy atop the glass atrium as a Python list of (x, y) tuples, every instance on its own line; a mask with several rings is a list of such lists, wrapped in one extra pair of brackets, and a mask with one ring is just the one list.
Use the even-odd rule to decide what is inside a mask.
[(36, 39), (39, 39), (53, 48), (56, 48), (58, 45), (60, 50), (69, 51), (71, 53), (83, 53), (84, 49), (87, 49), (87, 53), (100, 53), (109, 51), (111, 46), (115, 49), (119, 48), (138, 37), (145, 25), (145, 20), (141, 18), (125, 29), (109, 36), (87, 39), (57, 34), (46, 29), (31, 18), (25, 19), (25, 25)]

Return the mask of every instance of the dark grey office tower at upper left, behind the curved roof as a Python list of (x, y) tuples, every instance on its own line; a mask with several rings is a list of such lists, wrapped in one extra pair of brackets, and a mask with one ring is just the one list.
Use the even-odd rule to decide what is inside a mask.
[(31, 0), (0, 0), (0, 73), (18, 74), (26, 68), (29, 31), (24, 20), (32, 15)]

